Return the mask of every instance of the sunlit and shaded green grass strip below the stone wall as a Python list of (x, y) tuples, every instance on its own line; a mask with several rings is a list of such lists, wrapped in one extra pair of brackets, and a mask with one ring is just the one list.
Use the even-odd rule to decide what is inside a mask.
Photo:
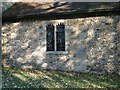
[(3, 88), (120, 88), (119, 75), (3, 68)]

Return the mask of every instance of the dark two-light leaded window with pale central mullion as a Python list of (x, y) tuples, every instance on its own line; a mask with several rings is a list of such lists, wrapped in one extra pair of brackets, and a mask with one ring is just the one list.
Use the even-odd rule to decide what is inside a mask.
[(65, 26), (58, 24), (47, 26), (47, 51), (65, 51)]

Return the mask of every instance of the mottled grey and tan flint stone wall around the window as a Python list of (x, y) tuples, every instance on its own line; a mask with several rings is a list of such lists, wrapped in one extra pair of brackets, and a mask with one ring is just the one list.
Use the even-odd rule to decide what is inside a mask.
[[(48, 23), (65, 24), (65, 52), (46, 52)], [(119, 38), (120, 16), (6, 23), (2, 26), (3, 65), (120, 74)]]

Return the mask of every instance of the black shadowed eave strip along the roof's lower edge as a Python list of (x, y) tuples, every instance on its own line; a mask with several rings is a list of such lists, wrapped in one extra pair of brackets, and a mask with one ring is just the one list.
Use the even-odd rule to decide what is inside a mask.
[(120, 9), (100, 9), (94, 11), (74, 11), (66, 13), (46, 13), (46, 14), (26, 14), (26, 15), (13, 15), (2, 16), (2, 22), (18, 22), (23, 20), (55, 20), (55, 19), (72, 19), (72, 18), (84, 18), (94, 16), (108, 16), (108, 15), (120, 15)]

